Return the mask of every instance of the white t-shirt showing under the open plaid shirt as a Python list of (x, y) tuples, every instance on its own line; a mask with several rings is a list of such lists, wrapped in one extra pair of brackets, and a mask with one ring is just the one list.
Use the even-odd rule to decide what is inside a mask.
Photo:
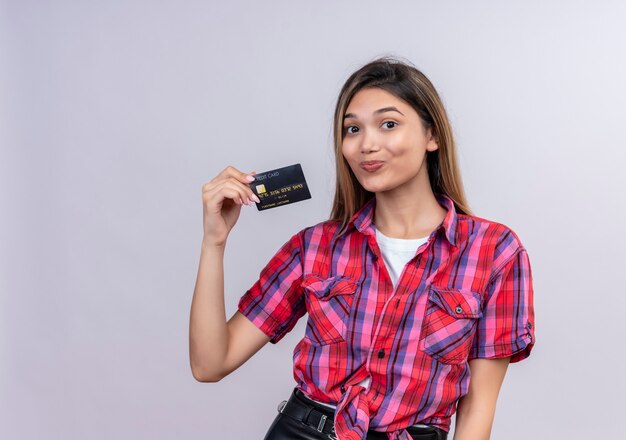
[[(376, 227), (374, 226), (374, 228)], [(404, 266), (406, 266), (406, 263), (408, 263), (409, 260), (415, 256), (417, 249), (428, 241), (428, 237), (429, 236), (414, 239), (392, 238), (383, 235), (378, 229), (376, 229), (376, 241), (378, 242), (378, 247), (383, 254), (383, 260), (385, 262), (385, 266), (387, 267), (387, 272), (389, 272), (389, 276), (391, 277), (391, 283), (393, 284), (394, 290), (398, 284), (398, 279), (402, 274)], [(370, 378), (366, 377), (359, 383), (359, 385), (367, 388), (369, 381)], [(334, 405), (327, 403), (318, 403), (332, 409), (336, 408)]]

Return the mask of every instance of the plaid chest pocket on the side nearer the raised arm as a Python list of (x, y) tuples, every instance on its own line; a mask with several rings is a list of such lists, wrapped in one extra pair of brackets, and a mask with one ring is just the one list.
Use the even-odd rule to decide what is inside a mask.
[(345, 341), (358, 281), (342, 275), (328, 278), (309, 275), (302, 281), (302, 287), (309, 313), (306, 336), (321, 345)]

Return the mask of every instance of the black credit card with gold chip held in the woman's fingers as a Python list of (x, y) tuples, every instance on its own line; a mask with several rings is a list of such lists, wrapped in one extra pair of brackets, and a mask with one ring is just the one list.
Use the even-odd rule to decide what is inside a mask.
[(255, 202), (259, 211), (311, 198), (299, 163), (257, 173), (254, 177), (248, 185), (261, 201)]

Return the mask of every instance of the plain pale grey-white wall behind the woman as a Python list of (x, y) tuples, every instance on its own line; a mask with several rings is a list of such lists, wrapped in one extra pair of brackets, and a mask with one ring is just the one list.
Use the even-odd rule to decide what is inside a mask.
[(432, 79), (472, 209), (531, 258), (537, 344), (492, 438), (622, 437), (625, 22), (618, 1), (0, 2), (0, 437), (263, 437), (304, 319), (193, 379), (201, 186), (301, 163), (313, 196), (244, 207), (230, 316), (328, 217), (335, 99), (379, 55)]

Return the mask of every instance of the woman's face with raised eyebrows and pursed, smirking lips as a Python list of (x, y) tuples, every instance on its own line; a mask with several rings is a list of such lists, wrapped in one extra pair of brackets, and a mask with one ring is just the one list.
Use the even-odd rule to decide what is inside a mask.
[(343, 122), (341, 152), (366, 190), (429, 184), (426, 152), (438, 146), (405, 101), (379, 88), (362, 89), (348, 104)]

